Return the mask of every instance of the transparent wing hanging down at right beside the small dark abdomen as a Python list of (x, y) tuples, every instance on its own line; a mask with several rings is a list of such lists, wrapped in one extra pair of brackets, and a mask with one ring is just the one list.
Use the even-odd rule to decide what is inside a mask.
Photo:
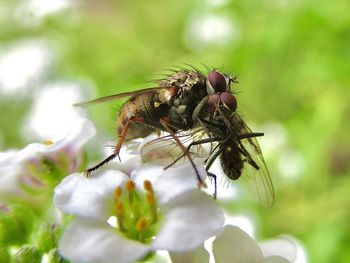
[[(252, 133), (243, 120), (241, 125), (240, 134)], [(239, 144), (246, 155), (241, 181), (256, 202), (264, 207), (271, 207), (275, 200), (275, 192), (256, 137), (241, 139)]]

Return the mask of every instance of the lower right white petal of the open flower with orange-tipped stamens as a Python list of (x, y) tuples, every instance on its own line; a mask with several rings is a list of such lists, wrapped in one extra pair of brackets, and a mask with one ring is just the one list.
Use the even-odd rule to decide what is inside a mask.
[(163, 225), (152, 247), (173, 252), (197, 248), (223, 226), (223, 211), (214, 199), (191, 190), (171, 200), (163, 208)]

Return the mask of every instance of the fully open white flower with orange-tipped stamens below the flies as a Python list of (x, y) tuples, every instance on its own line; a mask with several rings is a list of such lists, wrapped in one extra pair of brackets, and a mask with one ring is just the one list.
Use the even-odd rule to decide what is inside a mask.
[(187, 252), (222, 228), (222, 210), (197, 189), (189, 164), (164, 171), (129, 162), (137, 167), (129, 175), (105, 168), (91, 178), (71, 174), (56, 187), (55, 205), (76, 215), (59, 243), (67, 259), (133, 262), (157, 250)]

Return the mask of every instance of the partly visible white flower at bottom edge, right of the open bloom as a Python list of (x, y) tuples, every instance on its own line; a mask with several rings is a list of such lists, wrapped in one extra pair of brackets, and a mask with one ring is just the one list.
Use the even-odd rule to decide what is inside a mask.
[(261, 247), (243, 230), (227, 225), (213, 241), (215, 262), (288, 263), (294, 262), (297, 247), (291, 240), (276, 239)]

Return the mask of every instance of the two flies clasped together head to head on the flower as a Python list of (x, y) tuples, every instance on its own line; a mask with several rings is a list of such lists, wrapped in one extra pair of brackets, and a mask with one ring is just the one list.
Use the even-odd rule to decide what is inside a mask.
[[(229, 179), (240, 178), (244, 171), (242, 181), (247, 182), (248, 190), (254, 199), (263, 206), (271, 206), (274, 190), (255, 138), (263, 134), (253, 133), (236, 112), (237, 101), (230, 88), (235, 82), (235, 78), (216, 70), (211, 70), (205, 75), (195, 68), (181, 69), (158, 81), (153, 88), (75, 104), (82, 106), (130, 97), (121, 106), (117, 117), (119, 140), (113, 154), (89, 168), (86, 174), (90, 175), (117, 157), (124, 141), (145, 138), (153, 132), (165, 131), (181, 149), (181, 156), (190, 161), (200, 186), (205, 186), (205, 182), (199, 175), (190, 148), (215, 143), (216, 146), (205, 161), (208, 175), (215, 179), (215, 196), (216, 176), (209, 172), (209, 168), (214, 160), (220, 157), (223, 171)], [(207, 138), (195, 139), (196, 136), (193, 136), (193, 141), (186, 147), (181, 136), (178, 136), (182, 132), (192, 136), (195, 133), (204, 133)], [(151, 141), (144, 147), (154, 149), (163, 139)], [(180, 157), (175, 158), (169, 166), (175, 164)]]

